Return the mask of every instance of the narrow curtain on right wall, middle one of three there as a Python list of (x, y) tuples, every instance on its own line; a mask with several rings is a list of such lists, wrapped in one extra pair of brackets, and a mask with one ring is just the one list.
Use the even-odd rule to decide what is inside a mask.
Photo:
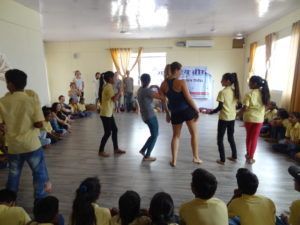
[(265, 37), (265, 44), (266, 44), (266, 74), (265, 79), (269, 82), (271, 81), (272, 77), (272, 53), (274, 51), (276, 43), (276, 33), (268, 34)]

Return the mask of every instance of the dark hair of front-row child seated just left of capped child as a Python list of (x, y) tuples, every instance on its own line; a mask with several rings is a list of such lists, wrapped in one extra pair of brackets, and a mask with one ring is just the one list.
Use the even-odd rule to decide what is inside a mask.
[(238, 188), (242, 194), (254, 195), (258, 188), (258, 178), (246, 168), (238, 169), (236, 173)]

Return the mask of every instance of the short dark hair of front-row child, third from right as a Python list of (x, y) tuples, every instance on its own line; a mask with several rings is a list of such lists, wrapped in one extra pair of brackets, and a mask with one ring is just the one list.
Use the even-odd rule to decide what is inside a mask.
[(192, 190), (197, 198), (210, 199), (217, 190), (216, 177), (204, 169), (196, 169), (192, 173)]

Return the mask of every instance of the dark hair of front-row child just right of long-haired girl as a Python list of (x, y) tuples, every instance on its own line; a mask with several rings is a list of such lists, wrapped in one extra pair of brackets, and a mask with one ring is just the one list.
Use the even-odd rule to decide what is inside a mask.
[(126, 191), (119, 199), (119, 215), (122, 225), (130, 224), (140, 215), (141, 198), (135, 191)]

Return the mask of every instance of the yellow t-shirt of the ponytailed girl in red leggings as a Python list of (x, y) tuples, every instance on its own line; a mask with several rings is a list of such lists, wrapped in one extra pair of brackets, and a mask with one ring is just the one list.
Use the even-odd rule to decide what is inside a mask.
[(259, 89), (251, 90), (244, 98), (243, 105), (246, 106), (243, 118), (244, 122), (262, 123), (265, 115), (265, 105)]

